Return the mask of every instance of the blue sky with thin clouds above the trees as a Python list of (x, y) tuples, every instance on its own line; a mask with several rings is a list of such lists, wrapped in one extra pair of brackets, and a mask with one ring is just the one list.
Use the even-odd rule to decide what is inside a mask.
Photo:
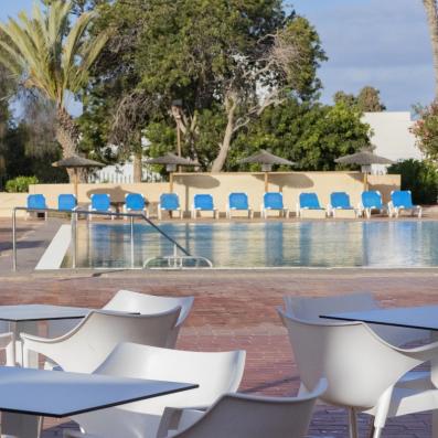
[[(316, 26), (329, 61), (321, 99), (336, 90), (381, 90), (388, 110), (412, 110), (434, 98), (431, 49), (421, 0), (285, 0)], [(0, 20), (33, 0), (0, 0)]]

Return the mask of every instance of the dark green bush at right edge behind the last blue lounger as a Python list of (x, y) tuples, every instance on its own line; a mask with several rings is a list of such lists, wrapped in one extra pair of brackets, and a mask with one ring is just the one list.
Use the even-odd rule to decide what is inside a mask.
[(402, 190), (413, 192), (416, 204), (436, 204), (438, 197), (438, 170), (427, 160), (405, 160), (393, 164), (388, 173), (402, 175)]

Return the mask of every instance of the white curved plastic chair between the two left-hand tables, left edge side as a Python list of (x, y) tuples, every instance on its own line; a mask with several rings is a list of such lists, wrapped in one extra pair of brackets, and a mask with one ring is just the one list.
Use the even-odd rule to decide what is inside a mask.
[(92, 373), (120, 342), (165, 346), (181, 308), (157, 314), (116, 314), (93, 311), (71, 332), (47, 339), (22, 333), (24, 366), (40, 353), (64, 371)]

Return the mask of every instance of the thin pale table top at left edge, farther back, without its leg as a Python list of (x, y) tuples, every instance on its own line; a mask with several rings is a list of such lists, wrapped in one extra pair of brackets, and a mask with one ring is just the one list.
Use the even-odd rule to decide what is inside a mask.
[(43, 321), (56, 319), (79, 319), (86, 317), (92, 309), (49, 305), (0, 306), (2, 321)]

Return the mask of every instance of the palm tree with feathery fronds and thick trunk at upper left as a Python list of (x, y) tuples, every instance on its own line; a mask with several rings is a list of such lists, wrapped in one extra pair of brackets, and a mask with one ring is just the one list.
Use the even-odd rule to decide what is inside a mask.
[(77, 152), (79, 129), (66, 109), (66, 99), (88, 81), (90, 67), (108, 36), (88, 34), (96, 17), (83, 13), (71, 26), (71, 1), (55, 0), (44, 11), (36, 4), (32, 17), (22, 11), (18, 20), (0, 23), (2, 63), (26, 88), (36, 89), (56, 106), (56, 140), (63, 157)]

